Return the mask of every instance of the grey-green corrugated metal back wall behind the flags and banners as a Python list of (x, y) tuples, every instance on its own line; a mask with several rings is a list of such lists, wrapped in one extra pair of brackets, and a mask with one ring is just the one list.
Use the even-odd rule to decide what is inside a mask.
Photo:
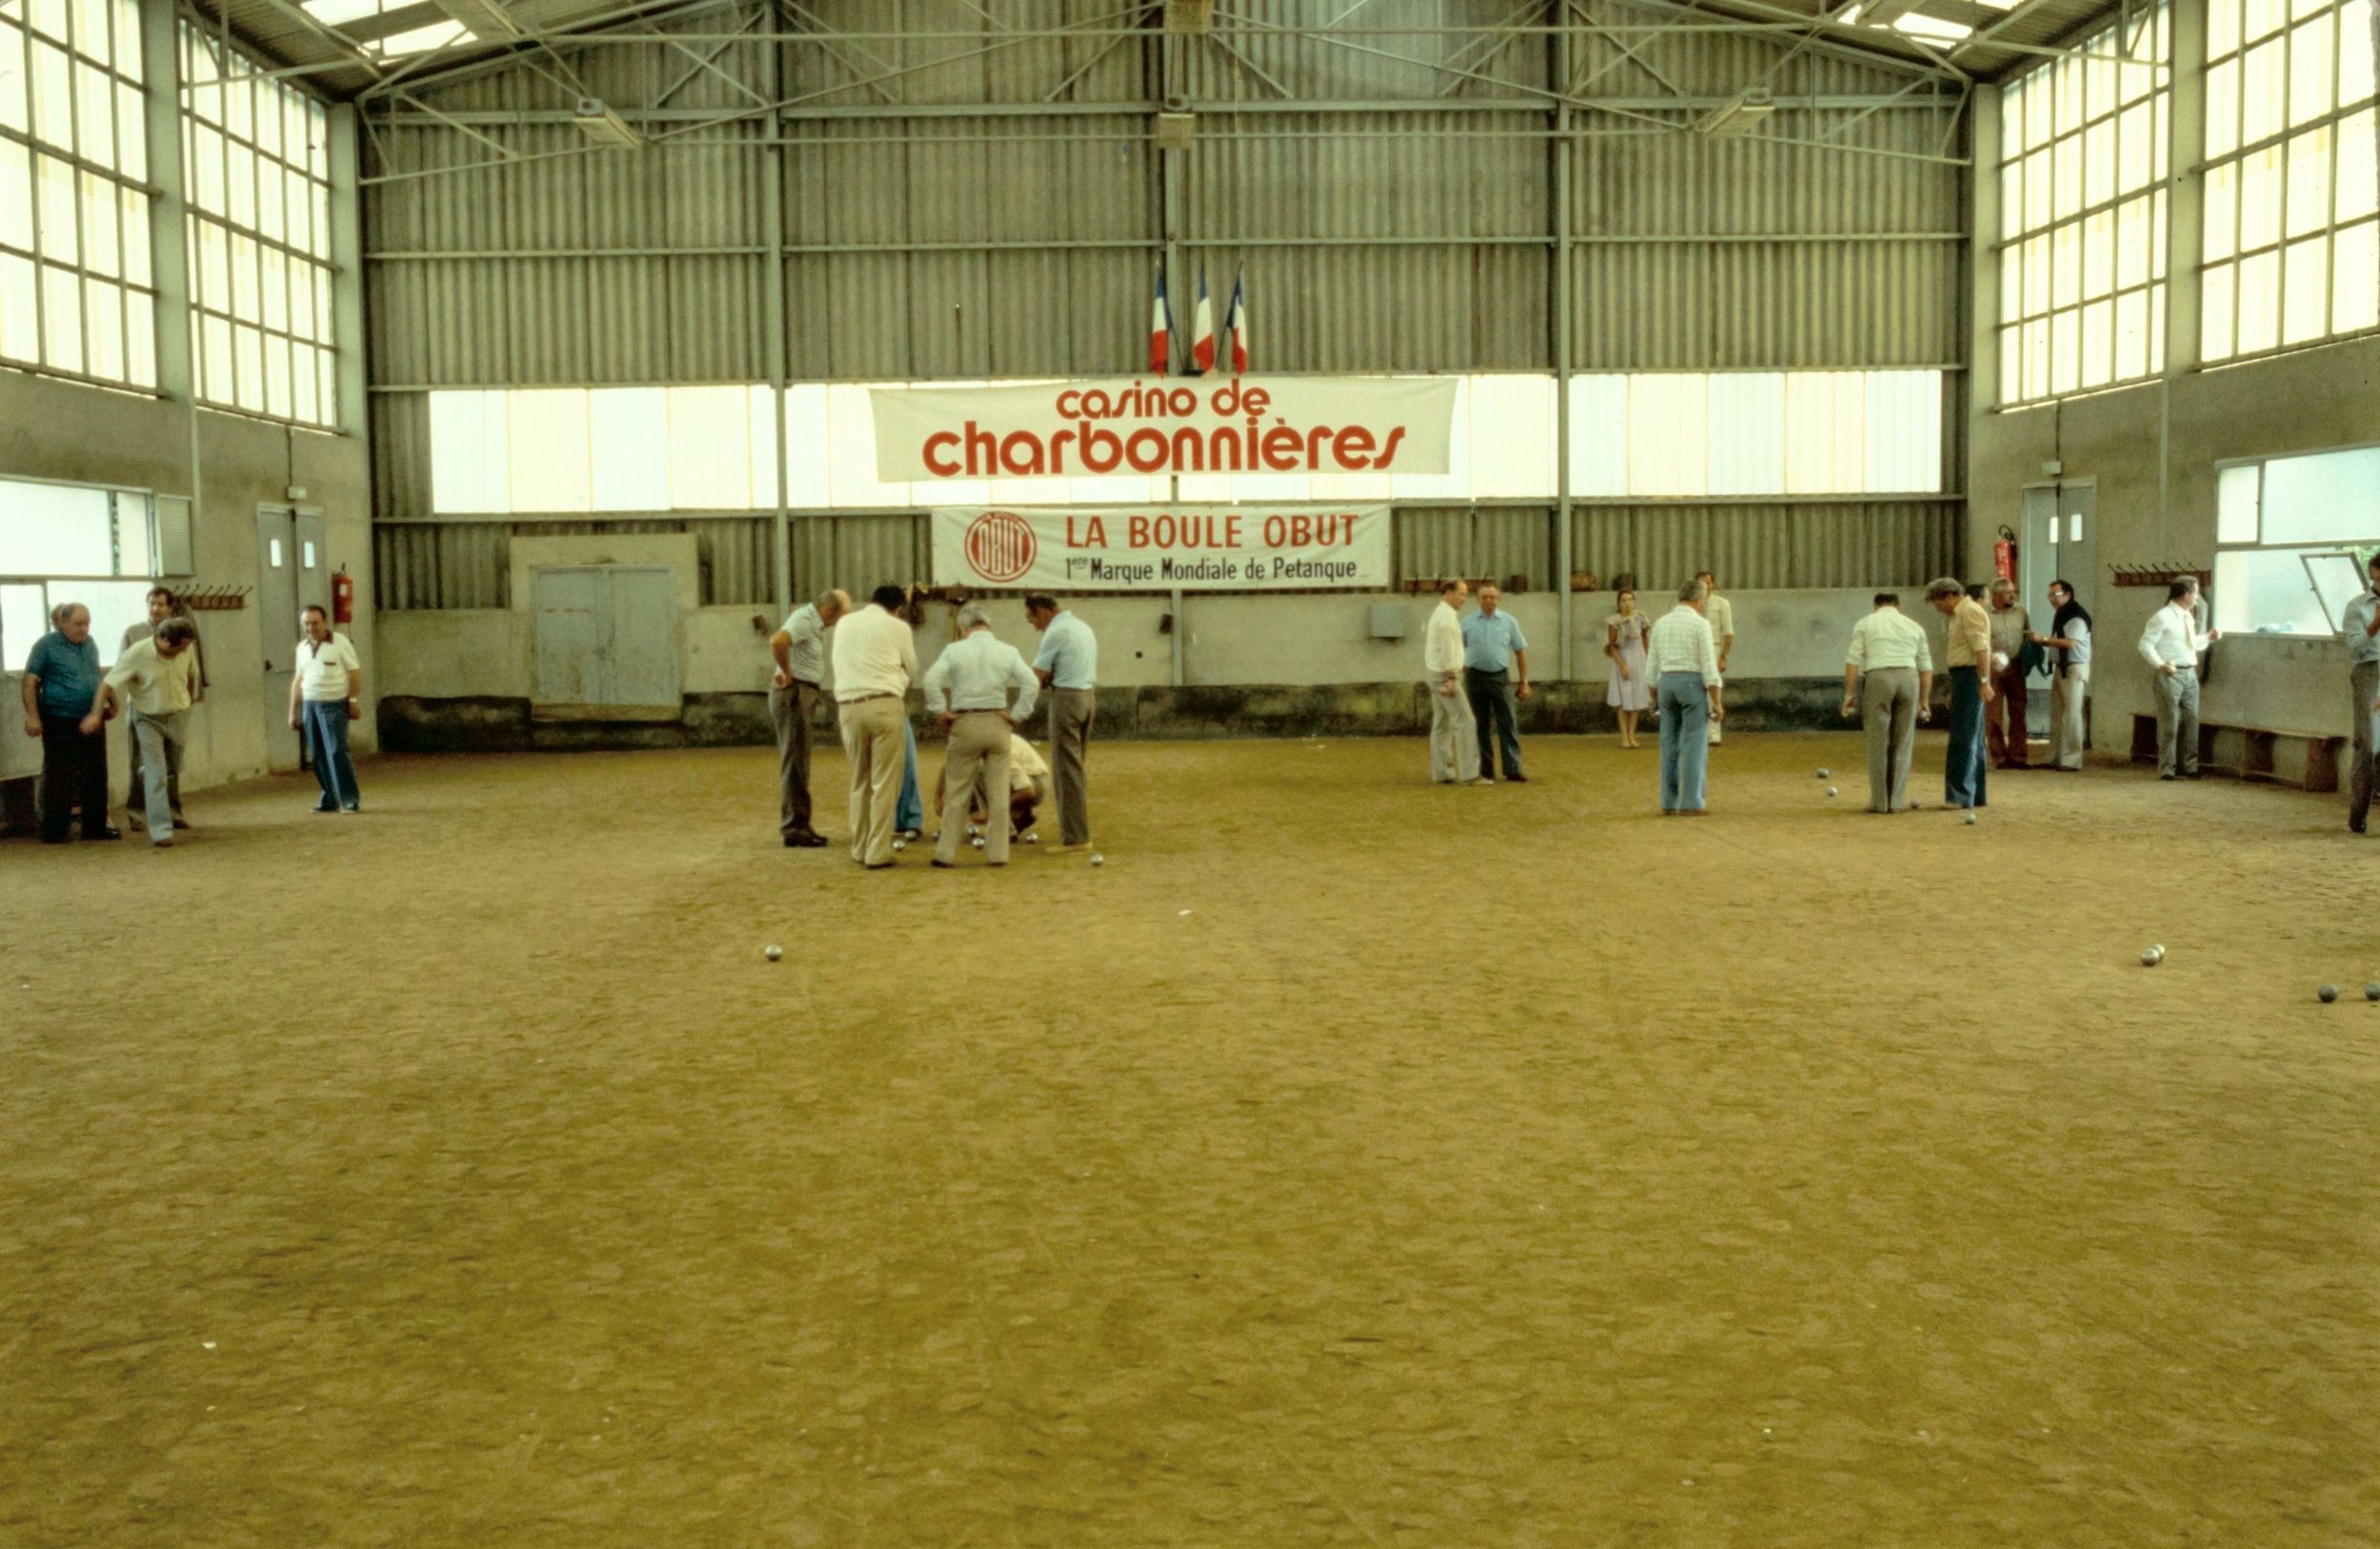
[[(662, 26), (790, 31), (783, 14)], [(1573, 12), (1526, 19), (1554, 14)], [(1380, 31), (1273, 31), (1342, 17)], [(533, 67), (421, 86), (445, 119), (374, 100), (376, 509), (407, 523), (383, 535), (383, 607), (500, 607), (509, 533), (531, 531), (421, 526), (424, 388), (769, 381), (778, 283), (793, 381), (1133, 371), (1169, 205), (1176, 305), (1200, 264), (1216, 290), (1245, 271), (1261, 369), (1547, 371), (1564, 286), (1578, 371), (1964, 359), (1954, 95), (1918, 83), (1885, 105), (1906, 69), (1775, 33), (1495, 31), (1516, 17), (1514, 0), (1240, 0), (1226, 26), (1257, 31), (1161, 45), (1031, 36), (1135, 24), (1114, 0), (807, 0), (800, 26), (866, 36), (564, 45), (585, 90), (638, 119), (633, 155), (588, 152), (569, 95)], [(1647, 29), (1678, 12), (1602, 0), (1592, 17)], [(1533, 93), (1564, 83), (1564, 52), (1595, 107), (1573, 117), (1559, 264), (1561, 152)], [(1764, 138), (1680, 131), (1752, 83), (1783, 102)], [(1195, 148), (1171, 159), (1150, 145), (1169, 95), (1200, 107)], [(697, 121), (719, 109), (750, 117)], [(1947, 397), (1956, 466), (1961, 376)], [(1909, 583), (1952, 566), (1959, 521), (1956, 500), (1597, 504), (1573, 512), (1573, 543), (1576, 569), (1606, 576)], [(707, 600), (774, 595), (764, 516), (685, 528), (704, 533)], [(804, 514), (790, 550), (795, 595), (928, 569), (907, 514)], [(1397, 519), (1399, 578), (1549, 585), (1554, 550), (1549, 507)]]

